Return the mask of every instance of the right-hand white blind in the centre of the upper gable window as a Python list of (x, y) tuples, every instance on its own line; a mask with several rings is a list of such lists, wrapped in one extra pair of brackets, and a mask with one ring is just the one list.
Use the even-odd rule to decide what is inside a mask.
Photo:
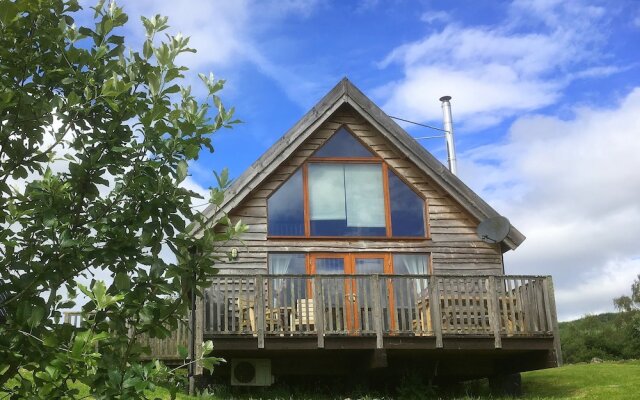
[(380, 164), (345, 164), (347, 226), (384, 228)]

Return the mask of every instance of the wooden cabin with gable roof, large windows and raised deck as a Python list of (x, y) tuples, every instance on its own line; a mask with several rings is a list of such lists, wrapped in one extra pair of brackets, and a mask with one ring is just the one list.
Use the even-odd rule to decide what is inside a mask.
[(525, 237), (482, 241), (497, 212), (347, 79), (205, 213), (249, 226), (198, 305), (232, 383), (561, 363), (551, 278), (504, 273)]

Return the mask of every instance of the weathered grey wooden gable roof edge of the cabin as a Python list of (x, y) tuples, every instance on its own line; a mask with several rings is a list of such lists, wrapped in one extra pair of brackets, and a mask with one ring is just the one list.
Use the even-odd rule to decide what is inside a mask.
[[(238, 206), (344, 104), (350, 105), (362, 115), (368, 123), (406, 155), (409, 161), (447, 192), (471, 216), (482, 221), (499, 215), (355, 85), (344, 78), (232, 183), (225, 193), (224, 202), (217, 211), (213, 206), (204, 210), (206, 219), (210, 220), (215, 214), (228, 213)], [(191, 233), (197, 234), (199, 230), (200, 228), (196, 226)], [(507, 247), (505, 250), (515, 249), (524, 239), (525, 236), (512, 225), (509, 235), (503, 242)]]

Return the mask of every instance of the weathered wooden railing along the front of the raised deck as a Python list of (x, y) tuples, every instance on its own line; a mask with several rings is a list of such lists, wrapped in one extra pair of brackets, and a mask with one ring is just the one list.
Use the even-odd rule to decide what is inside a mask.
[(553, 335), (544, 276), (225, 275), (204, 296), (205, 335), (495, 338)]

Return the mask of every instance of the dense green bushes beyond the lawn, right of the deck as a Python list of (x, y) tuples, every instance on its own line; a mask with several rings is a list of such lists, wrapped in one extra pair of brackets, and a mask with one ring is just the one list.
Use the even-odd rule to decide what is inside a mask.
[(567, 363), (640, 358), (640, 310), (561, 322), (560, 341)]

